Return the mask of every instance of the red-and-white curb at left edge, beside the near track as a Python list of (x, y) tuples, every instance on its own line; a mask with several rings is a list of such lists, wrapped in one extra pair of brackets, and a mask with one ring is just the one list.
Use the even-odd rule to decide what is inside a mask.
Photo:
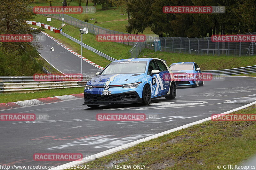
[(42, 98), (42, 99), (16, 101), (16, 102), (9, 102), (9, 103), (0, 103), (0, 110), (12, 109), (12, 108), (18, 108), (18, 107), (26, 107), (26, 106), (34, 106), (34, 105), (54, 103), (54, 102), (59, 102), (59, 101), (80, 99), (80, 98), (84, 98), (84, 93), (47, 97), (47, 98)]

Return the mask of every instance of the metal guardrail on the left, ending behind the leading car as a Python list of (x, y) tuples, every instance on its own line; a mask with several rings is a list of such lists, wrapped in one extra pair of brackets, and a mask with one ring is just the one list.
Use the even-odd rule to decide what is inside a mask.
[(35, 77), (0, 77), (1, 92), (24, 92), (59, 88), (84, 87), (91, 78), (81, 81), (39, 81)]

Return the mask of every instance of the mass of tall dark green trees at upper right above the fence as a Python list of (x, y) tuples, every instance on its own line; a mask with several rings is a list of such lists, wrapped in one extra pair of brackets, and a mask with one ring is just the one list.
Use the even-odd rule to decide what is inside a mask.
[[(165, 14), (163, 6), (225, 6), (223, 14)], [(148, 11), (145, 11), (145, 8)], [(128, 33), (150, 26), (159, 36), (206, 37), (256, 31), (255, 0), (128, 0)]]

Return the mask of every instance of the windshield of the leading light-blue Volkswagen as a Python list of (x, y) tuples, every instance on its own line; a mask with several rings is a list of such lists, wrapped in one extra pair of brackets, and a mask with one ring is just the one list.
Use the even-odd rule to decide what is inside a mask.
[(101, 75), (145, 73), (146, 65), (147, 61), (113, 62), (103, 70)]

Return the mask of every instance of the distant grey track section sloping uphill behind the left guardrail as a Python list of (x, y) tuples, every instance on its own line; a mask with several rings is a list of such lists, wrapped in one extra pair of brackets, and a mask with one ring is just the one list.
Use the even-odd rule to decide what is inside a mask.
[[(42, 38), (43, 41), (40, 41), (40, 43), (43, 46), (43, 49), (38, 50), (38, 52), (41, 53), (41, 55), (44, 57), (45, 60), (47, 60), (50, 63), (51, 61), (50, 48), (54, 47), (55, 50), (52, 52), (52, 65), (56, 69), (60, 70), (62, 73), (70, 73), (70, 74), (81, 73), (81, 58), (77, 57), (76, 55), (68, 51), (66, 48), (63, 48), (57, 42), (52, 40), (50, 37), (44, 35), (43, 33), (41, 33), (40, 36), (44, 37)], [(85, 48), (83, 48), (83, 57), (86, 58)], [(82, 61), (82, 64), (83, 64), (82, 70), (83, 70), (84, 76), (85, 75), (94, 76), (96, 72), (100, 71), (99, 68), (93, 66), (90, 63), (87, 63), (84, 60)]]

